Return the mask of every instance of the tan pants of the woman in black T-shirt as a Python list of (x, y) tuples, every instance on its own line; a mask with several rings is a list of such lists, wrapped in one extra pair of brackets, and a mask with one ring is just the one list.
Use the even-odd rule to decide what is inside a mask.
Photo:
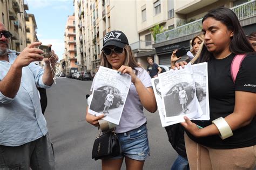
[(242, 170), (256, 166), (256, 145), (235, 149), (212, 149), (184, 135), (190, 169)]

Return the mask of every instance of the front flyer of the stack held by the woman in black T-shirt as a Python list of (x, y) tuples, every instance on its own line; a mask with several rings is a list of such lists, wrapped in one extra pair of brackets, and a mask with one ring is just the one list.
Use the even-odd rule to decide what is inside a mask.
[(184, 69), (159, 74), (159, 82), (166, 121), (176, 121), (184, 115), (192, 119), (197, 115), (196, 87), (190, 63)]

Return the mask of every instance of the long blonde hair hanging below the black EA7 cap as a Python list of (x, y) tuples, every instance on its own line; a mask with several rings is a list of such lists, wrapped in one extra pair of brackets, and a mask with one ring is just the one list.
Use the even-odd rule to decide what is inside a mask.
[[(123, 65), (131, 67), (132, 70), (135, 70), (136, 75), (137, 75), (138, 70), (136, 70), (135, 67), (140, 67), (140, 66), (138, 65), (138, 63), (136, 62), (136, 60), (133, 56), (131, 46), (130, 45), (125, 45), (124, 46), (124, 52), (125, 52), (125, 60), (124, 60)], [(112, 66), (107, 61), (107, 58), (104, 55), (103, 51), (102, 51), (102, 53), (100, 53), (100, 66), (104, 66), (104, 67), (112, 69)]]

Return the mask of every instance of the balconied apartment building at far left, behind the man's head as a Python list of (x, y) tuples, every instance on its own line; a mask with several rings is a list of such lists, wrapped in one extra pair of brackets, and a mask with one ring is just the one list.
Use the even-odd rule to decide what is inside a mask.
[(21, 51), (26, 47), (25, 22), (29, 17), (25, 10), (29, 10), (28, 4), (23, 0), (1, 0), (0, 6), (0, 21), (12, 33), (10, 49)]

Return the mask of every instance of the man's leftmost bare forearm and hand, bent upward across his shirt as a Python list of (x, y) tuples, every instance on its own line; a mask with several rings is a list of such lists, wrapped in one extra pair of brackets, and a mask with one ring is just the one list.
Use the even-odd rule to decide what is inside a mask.
[(6, 76), (0, 81), (0, 91), (4, 96), (9, 98), (16, 96), (21, 85), (22, 68), (24, 66), (28, 66), (31, 62), (42, 61), (43, 56), (40, 53), (43, 53), (43, 51), (34, 48), (40, 44), (41, 42), (30, 44), (17, 56)]

